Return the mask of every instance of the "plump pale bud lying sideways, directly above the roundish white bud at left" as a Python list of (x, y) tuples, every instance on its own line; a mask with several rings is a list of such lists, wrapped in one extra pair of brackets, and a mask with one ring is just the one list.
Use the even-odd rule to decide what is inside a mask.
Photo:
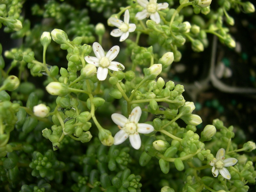
[(60, 82), (51, 82), (46, 86), (46, 91), (51, 95), (65, 96), (69, 93), (68, 85)]

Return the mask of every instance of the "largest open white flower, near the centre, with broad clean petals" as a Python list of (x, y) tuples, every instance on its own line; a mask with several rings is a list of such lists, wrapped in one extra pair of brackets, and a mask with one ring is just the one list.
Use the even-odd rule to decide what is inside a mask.
[(128, 137), (133, 148), (139, 149), (141, 140), (139, 133), (151, 133), (154, 127), (146, 123), (138, 123), (141, 116), (141, 108), (135, 107), (127, 119), (125, 116), (114, 113), (111, 115), (112, 120), (118, 125), (120, 131), (114, 136), (114, 145), (123, 143)]

